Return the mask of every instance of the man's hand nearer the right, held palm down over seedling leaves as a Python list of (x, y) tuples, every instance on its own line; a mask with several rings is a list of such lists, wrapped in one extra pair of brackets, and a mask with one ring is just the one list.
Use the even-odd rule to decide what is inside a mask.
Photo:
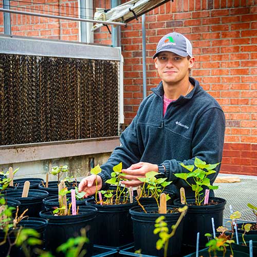
[(137, 187), (142, 185), (143, 182), (138, 180), (138, 177), (145, 177), (145, 174), (150, 171), (158, 172), (158, 165), (152, 164), (149, 162), (138, 162), (132, 164), (131, 167), (127, 168), (126, 170), (122, 170), (122, 173), (127, 174), (123, 176), (123, 178), (129, 179), (128, 181), (121, 181), (123, 185), (126, 187)]

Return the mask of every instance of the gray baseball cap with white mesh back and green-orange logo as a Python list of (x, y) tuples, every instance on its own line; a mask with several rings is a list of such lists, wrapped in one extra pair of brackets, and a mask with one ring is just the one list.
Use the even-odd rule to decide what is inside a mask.
[(186, 36), (177, 32), (172, 32), (162, 36), (157, 45), (156, 53), (154, 54), (153, 59), (158, 56), (158, 53), (163, 51), (174, 52), (178, 56), (182, 57), (193, 56), (192, 44), (186, 38)]

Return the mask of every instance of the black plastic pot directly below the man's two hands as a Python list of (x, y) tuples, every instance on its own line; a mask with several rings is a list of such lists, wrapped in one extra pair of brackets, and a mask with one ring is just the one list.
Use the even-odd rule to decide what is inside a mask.
[(87, 206), (94, 206), (98, 209), (97, 214), (97, 236), (96, 245), (121, 248), (133, 242), (132, 219), (129, 213), (130, 208), (137, 205), (97, 205), (95, 200), (86, 201)]

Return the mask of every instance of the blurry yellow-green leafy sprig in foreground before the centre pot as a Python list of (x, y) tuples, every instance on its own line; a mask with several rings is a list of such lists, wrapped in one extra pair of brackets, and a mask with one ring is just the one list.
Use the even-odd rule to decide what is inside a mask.
[(159, 234), (159, 239), (156, 242), (156, 249), (160, 250), (164, 247), (164, 257), (167, 257), (168, 247), (169, 247), (169, 240), (174, 234), (176, 233), (176, 229), (180, 222), (182, 221), (182, 218), (187, 213), (187, 206), (184, 206), (183, 208), (178, 208), (178, 211), (181, 213), (176, 224), (172, 225), (171, 233), (169, 233), (168, 224), (165, 222), (165, 216), (159, 216), (155, 221), (155, 229), (154, 234)]

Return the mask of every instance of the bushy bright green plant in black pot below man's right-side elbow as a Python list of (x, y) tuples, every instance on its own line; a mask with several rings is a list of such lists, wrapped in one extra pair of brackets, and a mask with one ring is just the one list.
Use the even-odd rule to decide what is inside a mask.
[[(208, 198), (208, 191), (203, 192), (203, 187), (207, 187), (209, 190), (218, 188), (210, 185), (208, 176), (216, 172), (214, 169), (219, 163), (207, 164), (205, 161), (195, 157), (194, 165), (185, 166), (183, 163), (180, 164), (188, 170), (188, 173), (174, 175), (185, 180), (192, 191), (195, 192), (194, 198), (186, 197), (188, 212), (183, 229), (183, 245), (194, 249), (197, 232), (199, 232), (199, 247), (204, 248), (207, 243), (207, 238), (204, 235), (212, 231), (212, 218), (216, 228), (223, 224), (223, 211), (226, 200), (218, 197)], [(174, 204), (179, 207), (185, 205), (181, 204), (180, 199), (175, 199)]]

